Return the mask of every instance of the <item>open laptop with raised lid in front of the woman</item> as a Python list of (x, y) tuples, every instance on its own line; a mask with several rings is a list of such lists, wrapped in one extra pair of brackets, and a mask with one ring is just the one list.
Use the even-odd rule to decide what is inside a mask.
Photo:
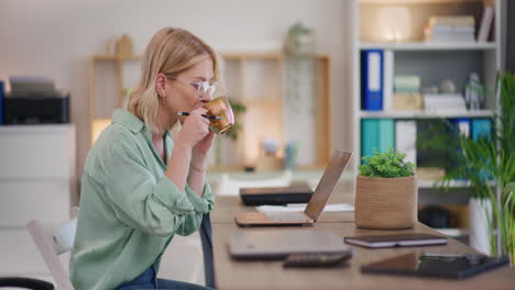
[(243, 226), (305, 225), (316, 223), (351, 157), (352, 153), (350, 152), (335, 152), (304, 212), (244, 212), (234, 215), (235, 223)]

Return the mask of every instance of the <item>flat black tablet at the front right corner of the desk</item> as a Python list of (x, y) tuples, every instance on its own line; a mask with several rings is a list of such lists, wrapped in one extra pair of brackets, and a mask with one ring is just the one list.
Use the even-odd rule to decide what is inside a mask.
[(506, 265), (508, 261), (507, 257), (494, 258), (483, 255), (410, 253), (364, 265), (361, 271), (462, 279)]

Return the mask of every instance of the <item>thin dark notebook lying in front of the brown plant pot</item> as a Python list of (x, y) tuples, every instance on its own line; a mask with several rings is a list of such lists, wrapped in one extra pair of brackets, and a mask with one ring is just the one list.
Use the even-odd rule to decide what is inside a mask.
[(396, 235), (369, 235), (346, 237), (346, 243), (369, 247), (409, 247), (409, 246), (428, 246), (428, 245), (445, 245), (447, 237), (430, 235), (430, 234), (396, 234)]

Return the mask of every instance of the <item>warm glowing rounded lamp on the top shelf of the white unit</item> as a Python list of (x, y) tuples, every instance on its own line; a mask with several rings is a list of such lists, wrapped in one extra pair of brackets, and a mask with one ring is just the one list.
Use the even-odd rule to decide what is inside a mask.
[(386, 42), (403, 42), (409, 37), (412, 19), (405, 7), (387, 7), (377, 12), (380, 35)]

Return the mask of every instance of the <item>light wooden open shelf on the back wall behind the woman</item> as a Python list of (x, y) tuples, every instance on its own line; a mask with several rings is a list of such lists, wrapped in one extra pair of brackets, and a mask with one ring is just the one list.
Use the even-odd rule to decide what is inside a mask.
[[(264, 138), (277, 143), (277, 156), (289, 141), (300, 144), (298, 156), (303, 168), (325, 167), (330, 155), (329, 115), (329, 69), (327, 55), (298, 56), (287, 58), (283, 54), (222, 54), (222, 82), (230, 101), (245, 105), (246, 111), (238, 114), (235, 122), (241, 125), (235, 142), (220, 137), (216, 149), (211, 150), (210, 166), (215, 170), (241, 170), (264, 160), (261, 149)], [(91, 144), (98, 134), (110, 123), (110, 112), (121, 108), (127, 87), (135, 85), (136, 78), (128, 81), (128, 67), (139, 65), (141, 56), (90, 57), (89, 67), (89, 110)], [(311, 105), (302, 108), (286, 102), (286, 67), (295, 64), (306, 71), (307, 81), (299, 81), (298, 88), (313, 90), (298, 92)], [(308, 67), (310, 66), (310, 67)], [(132, 72), (135, 68), (131, 69)], [(108, 72), (107, 72), (108, 71)], [(109, 72), (110, 71), (110, 72)], [(139, 71), (139, 70), (136, 70)], [(292, 70), (291, 70), (292, 71)], [(295, 72), (295, 71), (294, 71)], [(101, 77), (100, 74), (107, 74)], [(102, 82), (103, 85), (98, 85)], [(109, 82), (109, 83), (108, 83)], [(117, 83), (117, 86), (113, 86)], [(110, 87), (108, 89), (107, 87)], [(113, 87), (116, 89), (113, 90)], [(117, 96), (112, 98), (111, 94)], [(304, 102), (293, 100), (293, 103)], [(304, 111), (304, 114), (299, 114)], [(274, 168), (277, 169), (277, 168)]]

